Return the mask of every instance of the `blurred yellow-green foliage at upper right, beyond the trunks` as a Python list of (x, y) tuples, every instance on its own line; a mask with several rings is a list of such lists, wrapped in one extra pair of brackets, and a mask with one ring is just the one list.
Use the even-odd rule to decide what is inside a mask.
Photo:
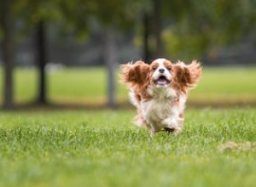
[(201, 58), (207, 50), (255, 40), (256, 2), (253, 0), (163, 0), (167, 54), (172, 58)]

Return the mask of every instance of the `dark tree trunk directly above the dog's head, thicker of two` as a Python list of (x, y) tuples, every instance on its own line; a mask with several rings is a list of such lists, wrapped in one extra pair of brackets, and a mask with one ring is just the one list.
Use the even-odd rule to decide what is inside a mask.
[(154, 58), (160, 58), (163, 53), (163, 44), (161, 39), (162, 23), (161, 23), (161, 0), (154, 0), (154, 39), (155, 51)]

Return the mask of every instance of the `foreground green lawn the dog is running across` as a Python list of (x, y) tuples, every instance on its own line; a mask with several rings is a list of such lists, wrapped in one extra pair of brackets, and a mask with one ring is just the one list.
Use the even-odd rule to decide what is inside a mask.
[(150, 138), (135, 110), (3, 111), (0, 186), (254, 186), (255, 113), (188, 108), (183, 133)]

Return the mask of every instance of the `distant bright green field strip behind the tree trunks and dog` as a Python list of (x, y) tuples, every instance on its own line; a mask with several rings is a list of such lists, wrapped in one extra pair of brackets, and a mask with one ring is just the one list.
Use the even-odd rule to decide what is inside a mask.
[[(0, 71), (3, 74), (2, 71)], [(104, 104), (107, 93), (107, 73), (103, 68), (61, 69), (48, 73), (49, 100), (54, 103)], [(117, 97), (127, 101), (127, 91), (118, 84)], [(205, 68), (198, 88), (191, 91), (189, 102), (256, 105), (256, 68)], [(3, 88), (3, 76), (0, 77)], [(37, 73), (35, 69), (15, 70), (15, 100), (31, 102), (36, 98)], [(3, 98), (0, 91), (0, 102)]]

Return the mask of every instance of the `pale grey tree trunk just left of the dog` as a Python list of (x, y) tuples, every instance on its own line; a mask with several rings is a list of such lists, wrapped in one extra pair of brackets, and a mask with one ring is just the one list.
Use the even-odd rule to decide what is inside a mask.
[(115, 108), (116, 85), (115, 85), (115, 65), (117, 63), (115, 32), (113, 28), (107, 28), (104, 36), (103, 60), (108, 70), (108, 106)]

